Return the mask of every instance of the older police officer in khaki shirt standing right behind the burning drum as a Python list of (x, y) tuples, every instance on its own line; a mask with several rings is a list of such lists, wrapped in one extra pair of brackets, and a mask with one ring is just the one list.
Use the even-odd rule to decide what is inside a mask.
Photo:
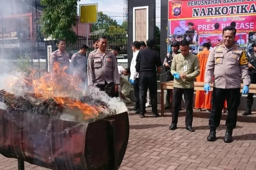
[(118, 97), (120, 84), (117, 60), (115, 55), (106, 50), (107, 37), (100, 36), (98, 49), (88, 56), (88, 85), (96, 85), (110, 97)]

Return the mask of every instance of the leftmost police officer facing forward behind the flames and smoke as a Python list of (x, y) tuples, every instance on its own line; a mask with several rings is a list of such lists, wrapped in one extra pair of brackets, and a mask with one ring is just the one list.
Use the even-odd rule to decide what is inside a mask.
[(65, 68), (65, 72), (68, 73), (68, 67), (70, 65), (69, 63), (69, 53), (66, 52), (66, 41), (63, 39), (60, 39), (57, 41), (57, 47), (58, 50), (52, 52), (49, 58), (50, 63), (50, 73), (53, 75), (53, 77), (56, 76), (56, 68), (54, 68), (54, 63), (59, 63), (59, 68), (63, 69)]

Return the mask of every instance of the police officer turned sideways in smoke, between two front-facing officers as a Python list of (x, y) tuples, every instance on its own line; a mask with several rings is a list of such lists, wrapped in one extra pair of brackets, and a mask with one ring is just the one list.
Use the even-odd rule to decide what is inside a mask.
[(82, 45), (80, 50), (72, 55), (70, 69), (73, 71), (73, 76), (79, 77), (83, 82), (87, 77), (87, 60), (86, 52), (87, 45)]

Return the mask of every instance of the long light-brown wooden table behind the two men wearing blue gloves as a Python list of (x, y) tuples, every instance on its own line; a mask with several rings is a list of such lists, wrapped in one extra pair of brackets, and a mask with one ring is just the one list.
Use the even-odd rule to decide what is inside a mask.
[[(211, 85), (211, 90), (213, 90), (213, 84)], [(164, 117), (164, 89), (173, 89), (173, 81), (163, 82), (160, 85), (161, 89), (161, 115)], [(194, 90), (203, 90), (204, 82), (194, 82)], [(244, 84), (241, 84), (241, 92), (243, 91)], [(250, 93), (256, 93), (256, 84), (250, 85)], [(170, 102), (170, 107), (172, 111), (172, 102)]]

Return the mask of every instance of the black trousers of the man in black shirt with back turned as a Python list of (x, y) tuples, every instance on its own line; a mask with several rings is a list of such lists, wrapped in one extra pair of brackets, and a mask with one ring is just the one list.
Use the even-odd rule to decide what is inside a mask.
[(145, 114), (146, 111), (146, 97), (149, 88), (151, 98), (151, 107), (153, 115), (157, 115), (157, 78), (155, 77), (139, 77), (139, 113)]

